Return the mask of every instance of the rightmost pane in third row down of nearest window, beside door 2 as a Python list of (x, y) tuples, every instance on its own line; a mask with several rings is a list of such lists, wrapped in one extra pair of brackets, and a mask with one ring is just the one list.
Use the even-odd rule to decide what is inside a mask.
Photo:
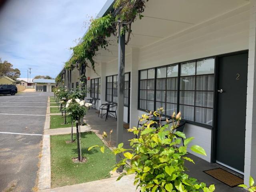
[(196, 92), (196, 106), (213, 108), (213, 92)]

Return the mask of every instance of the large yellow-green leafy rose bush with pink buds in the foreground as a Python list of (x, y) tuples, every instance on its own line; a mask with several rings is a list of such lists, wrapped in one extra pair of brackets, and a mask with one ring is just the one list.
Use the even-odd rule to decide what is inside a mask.
[[(161, 119), (162, 111), (163, 108), (160, 108), (158, 112), (142, 115), (140, 118), (142, 127), (128, 130), (137, 136), (129, 140), (131, 149), (123, 148), (123, 143), (117, 148), (112, 148), (114, 154), (122, 159), (115, 165), (113, 171), (122, 167), (125, 170), (117, 180), (125, 175), (135, 174), (134, 185), (137, 185), (141, 192), (213, 192), (214, 185), (206, 187), (205, 183), (198, 183), (195, 178), (185, 173), (187, 169), (184, 161), (194, 163), (186, 156), (188, 144), (194, 138), (186, 138), (183, 132), (176, 131), (181, 114), (173, 113), (172, 121), (166, 120), (164, 126), (150, 120), (152, 115)], [(156, 124), (158, 126), (155, 126)], [(106, 132), (102, 137), (107, 145), (110, 144), (106, 141)], [(178, 137), (184, 138), (184, 146), (179, 145), (181, 140)], [(104, 152), (104, 146), (92, 146), (88, 150), (94, 147), (100, 147)], [(206, 156), (205, 150), (198, 145), (192, 145), (190, 149)]]

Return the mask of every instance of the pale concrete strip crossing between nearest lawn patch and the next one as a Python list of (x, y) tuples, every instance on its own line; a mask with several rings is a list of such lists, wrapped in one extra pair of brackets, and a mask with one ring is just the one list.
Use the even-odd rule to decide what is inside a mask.
[[(80, 129), (81, 129), (81, 133), (92, 131), (89, 126), (81, 126)], [(48, 134), (48, 135), (65, 135), (65, 134), (70, 134), (70, 132), (71, 132), (71, 127), (44, 130), (44, 134)], [(76, 126), (73, 127), (73, 134), (75, 133), (76, 133)]]

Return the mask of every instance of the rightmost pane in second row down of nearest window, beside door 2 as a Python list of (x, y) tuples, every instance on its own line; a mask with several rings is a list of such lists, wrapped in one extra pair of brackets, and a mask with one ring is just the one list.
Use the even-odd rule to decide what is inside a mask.
[(214, 75), (196, 76), (196, 90), (213, 91)]

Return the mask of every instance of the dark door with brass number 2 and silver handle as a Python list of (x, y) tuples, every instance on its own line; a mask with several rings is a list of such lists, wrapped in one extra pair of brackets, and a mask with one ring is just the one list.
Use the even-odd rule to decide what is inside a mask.
[(218, 58), (216, 162), (244, 172), (248, 53)]

